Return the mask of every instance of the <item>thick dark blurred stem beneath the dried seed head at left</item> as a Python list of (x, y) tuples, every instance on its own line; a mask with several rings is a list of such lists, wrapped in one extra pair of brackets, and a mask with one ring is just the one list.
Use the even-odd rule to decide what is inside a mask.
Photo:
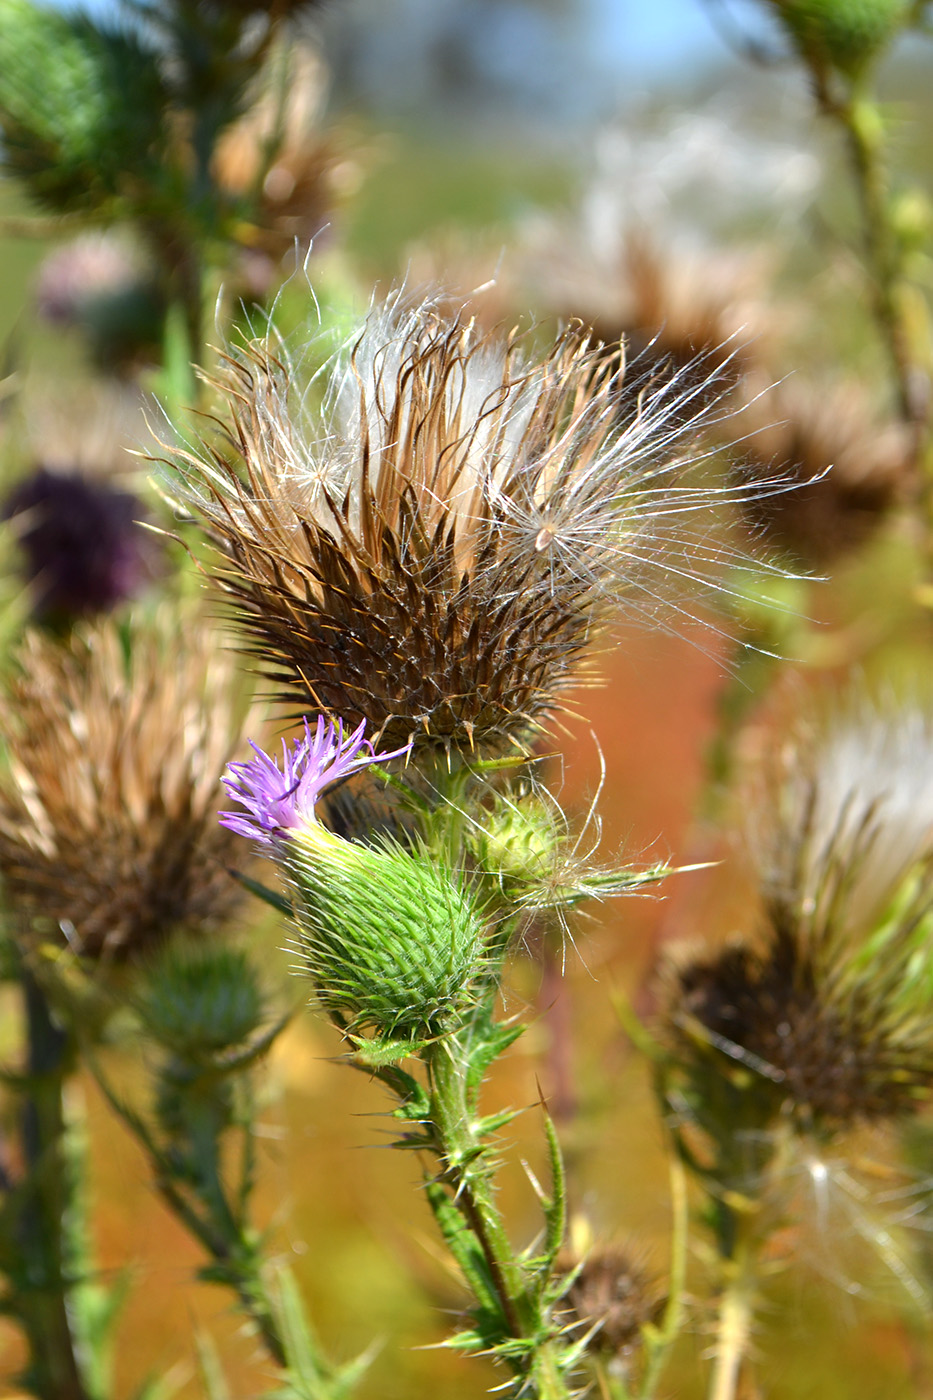
[(73, 1060), (69, 1033), (52, 1018), (45, 993), (22, 969), (28, 1096), (22, 1106), (22, 1207), (18, 1239), (28, 1284), (15, 1298), (29, 1343), (29, 1383), (42, 1400), (92, 1400), (88, 1359), (76, 1327), (77, 1280), (69, 1242), (74, 1180), (69, 1162), (64, 1081)]

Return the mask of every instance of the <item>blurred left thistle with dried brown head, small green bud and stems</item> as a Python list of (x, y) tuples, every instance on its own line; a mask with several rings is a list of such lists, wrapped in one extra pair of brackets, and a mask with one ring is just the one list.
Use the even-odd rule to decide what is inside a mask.
[[(167, 664), (171, 655), (171, 665)], [(24, 1385), (41, 1397), (109, 1393), (108, 1303), (83, 1242), (80, 1134), (64, 1091), (78, 1058), (140, 1137), (160, 1193), (206, 1247), (205, 1277), (234, 1288), (273, 1359), (291, 1365), (249, 1215), (251, 1070), (282, 1029), (242, 955), (219, 941), (241, 890), (238, 844), (217, 826), (219, 771), (240, 736), (230, 658), (210, 630), (168, 617), (29, 634), (7, 680), (0, 872), (7, 956), (27, 1011), (20, 1106), (22, 1168), (4, 1180), (4, 1310), (29, 1345)], [(189, 951), (171, 939), (186, 935)], [(136, 1009), (160, 1047), (156, 1127), (112, 1089), (99, 1046)], [(224, 1144), (242, 1141), (231, 1197)], [(290, 1337), (304, 1336), (291, 1306)], [(298, 1330), (296, 1330), (298, 1329)], [(321, 1376), (331, 1373), (321, 1362)], [(331, 1385), (331, 1379), (333, 1385)], [(350, 1376), (333, 1372), (335, 1400)]]

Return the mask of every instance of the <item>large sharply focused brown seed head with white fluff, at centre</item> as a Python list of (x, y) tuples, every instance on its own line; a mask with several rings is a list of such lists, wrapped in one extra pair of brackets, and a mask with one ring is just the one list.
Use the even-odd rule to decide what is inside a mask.
[(230, 440), (175, 454), (213, 573), (300, 707), (384, 745), (524, 745), (619, 605), (723, 564), (730, 493), (685, 476), (693, 391), (622, 421), (621, 370), (577, 330), (534, 361), (395, 300), (332, 367), (322, 426), (269, 342), (217, 389)]

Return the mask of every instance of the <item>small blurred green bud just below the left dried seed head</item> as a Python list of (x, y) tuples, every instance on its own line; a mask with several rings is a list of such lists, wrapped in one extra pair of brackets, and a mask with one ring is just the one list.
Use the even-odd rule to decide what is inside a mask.
[(242, 1044), (265, 1012), (242, 952), (184, 945), (170, 945), (148, 972), (139, 1009), (156, 1040), (195, 1058)]

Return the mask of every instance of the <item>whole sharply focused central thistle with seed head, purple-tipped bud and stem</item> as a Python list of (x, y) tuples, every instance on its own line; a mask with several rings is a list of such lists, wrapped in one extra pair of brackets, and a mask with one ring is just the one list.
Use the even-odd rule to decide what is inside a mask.
[[(479, 1095), (523, 1032), (497, 1016), (502, 977), (532, 923), (567, 927), (668, 871), (591, 867), (534, 743), (619, 612), (678, 606), (686, 575), (717, 587), (720, 507), (744, 489), (692, 458), (705, 384), (674, 372), (636, 398), (580, 330), (532, 357), (394, 297), (325, 372), (318, 392), (272, 336), (228, 350), (224, 431), (172, 451), (258, 666), (321, 711), (280, 763), (231, 766), (242, 811), (221, 820), (279, 868), (298, 974), (424, 1162), (474, 1295), (451, 1345), (504, 1365), (510, 1393), (558, 1400), (586, 1385), (595, 1331), (562, 1305), (546, 1114), (541, 1239), (517, 1249), (497, 1204), (514, 1112), (483, 1117)], [(382, 785), (377, 820), (360, 783)]]

